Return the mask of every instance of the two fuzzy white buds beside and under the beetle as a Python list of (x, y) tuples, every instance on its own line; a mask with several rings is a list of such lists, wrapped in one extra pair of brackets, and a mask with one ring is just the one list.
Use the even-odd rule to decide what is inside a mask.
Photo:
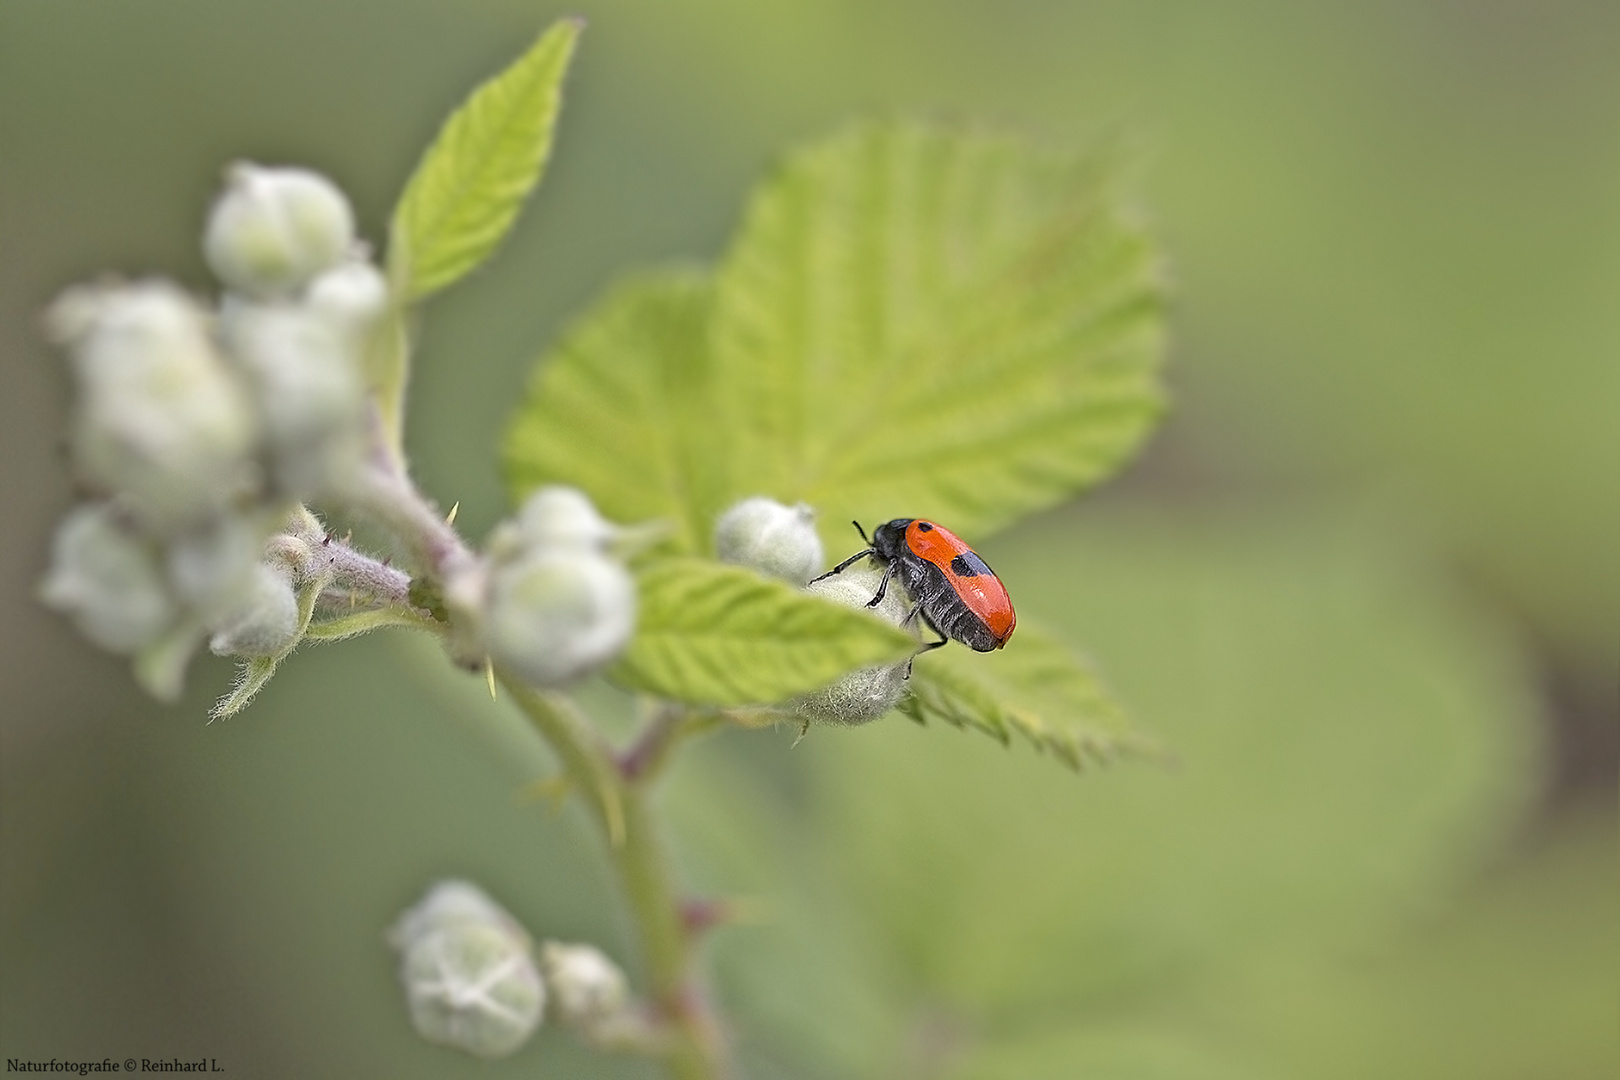
[[(802, 502), (786, 507), (774, 499), (744, 499), (716, 523), (714, 552), (721, 562), (750, 567), (847, 607), (867, 607), (883, 578), (881, 567), (860, 563), (831, 578), (812, 581), (821, 572), (821, 538), (815, 529), (815, 512)], [(907, 625), (910, 609), (902, 593), (904, 589), (889, 588), (883, 602), (867, 610), (896, 627)], [(915, 627), (915, 622), (909, 625)], [(867, 724), (899, 704), (909, 678), (909, 659), (885, 667), (863, 667), (829, 687), (795, 698), (789, 709), (805, 721)]]

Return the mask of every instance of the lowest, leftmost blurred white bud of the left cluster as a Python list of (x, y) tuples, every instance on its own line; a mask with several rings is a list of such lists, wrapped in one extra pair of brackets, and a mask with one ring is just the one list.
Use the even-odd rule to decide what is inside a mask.
[(178, 615), (157, 551), (105, 504), (78, 507), (57, 528), (39, 597), (110, 653), (134, 653)]

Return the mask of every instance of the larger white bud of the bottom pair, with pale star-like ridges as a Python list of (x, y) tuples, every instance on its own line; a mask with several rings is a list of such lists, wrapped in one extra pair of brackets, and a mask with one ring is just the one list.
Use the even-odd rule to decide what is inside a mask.
[(434, 886), (389, 938), (411, 1027), (424, 1040), (505, 1057), (539, 1027), (546, 988), (528, 934), (476, 886)]

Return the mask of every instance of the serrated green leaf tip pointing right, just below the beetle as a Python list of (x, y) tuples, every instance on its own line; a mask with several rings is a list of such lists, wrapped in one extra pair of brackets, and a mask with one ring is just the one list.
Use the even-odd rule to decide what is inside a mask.
[(914, 721), (972, 727), (1003, 743), (1017, 732), (1071, 769), (1158, 753), (1090, 667), (1029, 619), (1001, 653), (943, 648), (917, 657), (899, 708)]

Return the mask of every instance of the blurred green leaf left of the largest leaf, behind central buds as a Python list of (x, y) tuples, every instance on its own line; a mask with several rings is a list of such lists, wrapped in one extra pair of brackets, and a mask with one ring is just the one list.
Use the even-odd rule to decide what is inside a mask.
[(616, 521), (666, 520), (679, 551), (708, 544), (723, 419), (706, 410), (711, 288), (695, 272), (632, 279), (536, 371), (504, 445), (514, 502), (544, 484), (590, 492)]

